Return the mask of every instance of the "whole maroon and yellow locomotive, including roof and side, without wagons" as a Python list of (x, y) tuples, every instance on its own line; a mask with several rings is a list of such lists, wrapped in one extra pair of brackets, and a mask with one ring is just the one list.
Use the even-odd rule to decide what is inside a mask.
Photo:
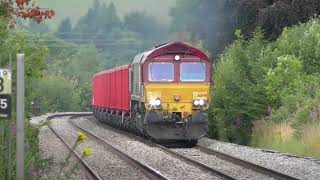
[(133, 131), (157, 141), (206, 135), (212, 66), (206, 54), (181, 42), (157, 46), (130, 65)]

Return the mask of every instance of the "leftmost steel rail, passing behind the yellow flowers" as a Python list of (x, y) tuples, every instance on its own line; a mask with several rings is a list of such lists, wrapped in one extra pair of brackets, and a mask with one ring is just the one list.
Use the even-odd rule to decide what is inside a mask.
[[(53, 118), (57, 118), (57, 117), (63, 117), (63, 116), (69, 116), (69, 115), (53, 115), (54, 117), (50, 117), (47, 119), (53, 119)], [(89, 164), (87, 164), (83, 159), (81, 159), (81, 157), (72, 149), (71, 146), (69, 146), (69, 144), (61, 137), (59, 136), (59, 134), (51, 127), (51, 125), (48, 125), (49, 129), (57, 136), (57, 138), (59, 138), (61, 140), (61, 142), (68, 147), (68, 149), (70, 149), (70, 151), (72, 152), (72, 154), (80, 161), (80, 163), (83, 165), (83, 167), (85, 168), (85, 170), (90, 174), (90, 176), (95, 179), (95, 180), (103, 180), (103, 178), (100, 177), (100, 175), (95, 172)]]

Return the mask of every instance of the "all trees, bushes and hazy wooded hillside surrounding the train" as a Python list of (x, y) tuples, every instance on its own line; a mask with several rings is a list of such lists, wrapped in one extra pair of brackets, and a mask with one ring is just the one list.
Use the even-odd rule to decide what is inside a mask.
[[(90, 111), (92, 74), (179, 40), (207, 52), (214, 62), (211, 138), (320, 157), (318, 0), (176, 0), (162, 2), (161, 12), (150, 8), (152, 1), (141, 0), (146, 4), (134, 10), (128, 10), (131, 1), (112, 2), (77, 1), (82, 14), (66, 16), (70, 9), (65, 7), (75, 1), (55, 2), (58, 7), (39, 1), (55, 7), (57, 20), (17, 19), (13, 30), (7, 28), (7, 5), (1, 4), (0, 65), (8, 67), (10, 54), (26, 54), (28, 117)], [(0, 126), (9, 129), (6, 123)], [(32, 137), (37, 128), (28, 130), (27, 163), (37, 169), (43, 165)], [(7, 136), (2, 130), (2, 142)], [(1, 152), (8, 152), (3, 144)], [(14, 169), (4, 164), (1, 153), (0, 179)]]

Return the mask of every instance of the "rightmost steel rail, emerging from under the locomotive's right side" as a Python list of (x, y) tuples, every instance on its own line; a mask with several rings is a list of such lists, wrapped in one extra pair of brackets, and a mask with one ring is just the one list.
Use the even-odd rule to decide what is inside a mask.
[(201, 152), (204, 152), (206, 154), (209, 154), (209, 155), (217, 156), (220, 159), (223, 159), (225, 161), (231, 162), (233, 164), (237, 164), (237, 165), (245, 167), (247, 169), (251, 169), (251, 170), (253, 170), (255, 172), (267, 175), (267, 176), (275, 178), (275, 179), (298, 180), (297, 178), (292, 177), (290, 175), (283, 174), (283, 173), (280, 173), (278, 171), (275, 171), (275, 170), (272, 170), (272, 169), (269, 169), (269, 168), (254, 164), (252, 162), (239, 159), (239, 158), (231, 156), (229, 154), (225, 154), (225, 153), (222, 153), (222, 152), (219, 152), (219, 151), (216, 151), (216, 150), (213, 150), (213, 149), (209, 149), (209, 148), (206, 148), (206, 147), (203, 147), (203, 146), (196, 146), (196, 147), (194, 147), (194, 149), (197, 149), (197, 150), (199, 150)]

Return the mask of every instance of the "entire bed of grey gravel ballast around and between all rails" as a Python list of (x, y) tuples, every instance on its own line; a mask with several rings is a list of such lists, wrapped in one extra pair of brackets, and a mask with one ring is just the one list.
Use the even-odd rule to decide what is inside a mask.
[[(76, 140), (76, 127), (72, 126), (68, 119), (69, 116), (55, 117), (51, 122), (57, 133), (72, 146)], [(50, 117), (47, 114), (31, 120), (33, 124), (40, 124), (43, 120)], [(88, 115), (88, 113), (86, 114)], [(92, 134), (104, 139), (112, 146), (120, 149), (132, 158), (139, 160), (155, 170), (159, 171), (169, 179), (221, 179), (213, 174), (201, 170), (199, 167), (190, 165), (176, 157), (164, 152), (160, 148), (152, 147), (142, 142), (136, 141), (131, 137), (115, 132), (106, 126), (101, 125), (92, 116), (82, 116), (72, 119), (74, 123), (88, 130)], [(47, 126), (42, 126), (38, 135), (41, 155), (49, 160), (49, 166), (41, 172), (40, 179), (56, 179), (60, 163), (68, 154), (68, 148), (58, 139)], [(208, 138), (200, 139), (198, 146), (229, 154), (231, 156), (264, 166), (266, 168), (288, 174), (298, 179), (320, 179), (320, 160), (295, 157), (285, 153), (273, 152), (264, 149), (256, 149), (232, 143), (220, 142)], [(85, 157), (85, 161), (104, 179), (148, 179), (140, 170), (132, 167), (118, 156), (114, 155), (101, 142), (91, 139), (81, 143), (76, 151), (82, 154), (83, 150), (90, 148), (92, 154)], [(180, 154), (187, 156), (195, 161), (203, 163), (209, 167), (227, 173), (236, 179), (271, 179), (262, 174), (255, 173), (213, 155), (203, 153), (197, 149), (172, 149)], [(68, 168), (77, 162), (76, 158), (71, 158)], [(85, 170), (80, 167), (70, 179), (87, 179)]]

